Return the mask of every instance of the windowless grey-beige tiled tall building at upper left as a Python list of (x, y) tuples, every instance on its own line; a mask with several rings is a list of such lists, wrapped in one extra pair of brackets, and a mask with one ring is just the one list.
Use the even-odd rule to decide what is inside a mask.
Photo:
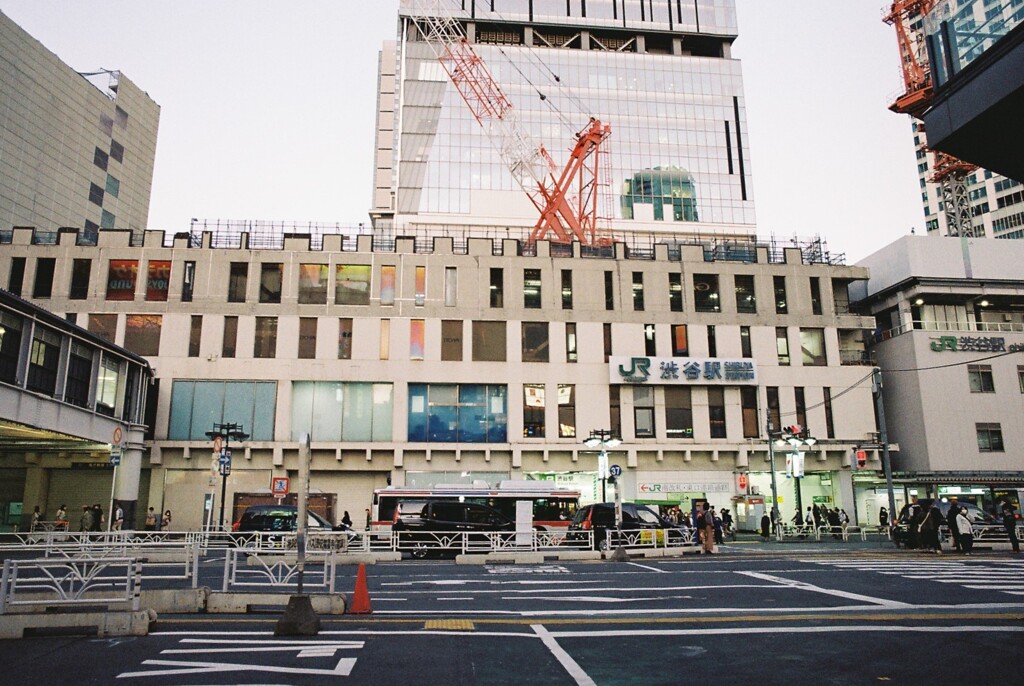
[(76, 72), (0, 12), (0, 230), (144, 230), (159, 121), (123, 75)]

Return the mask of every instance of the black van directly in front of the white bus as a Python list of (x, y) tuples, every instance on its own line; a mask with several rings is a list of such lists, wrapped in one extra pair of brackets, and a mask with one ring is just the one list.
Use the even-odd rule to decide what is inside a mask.
[(494, 531), (515, 530), (515, 522), (498, 510), (478, 503), (459, 501), (404, 501), (394, 511), (392, 533), (398, 535), (400, 549), (410, 550), (413, 557), (423, 558), (430, 553), (457, 553), (462, 549), (463, 537), (471, 535), (470, 543), (483, 543), (484, 535)]

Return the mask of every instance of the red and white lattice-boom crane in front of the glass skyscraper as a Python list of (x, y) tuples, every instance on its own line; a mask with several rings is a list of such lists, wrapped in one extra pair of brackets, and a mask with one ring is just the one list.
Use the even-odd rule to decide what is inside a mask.
[(598, 191), (608, 183), (599, 170), (601, 145), (611, 134), (611, 127), (591, 118), (575, 134), (569, 160), (556, 176), (554, 160), (544, 145), (532, 141), (512, 102), (476, 54), (462, 24), (441, 9), (443, 0), (403, 1), (414, 10), (410, 20), (420, 37), (540, 212), (529, 242), (550, 238), (555, 243), (606, 245), (605, 231), (598, 226)]

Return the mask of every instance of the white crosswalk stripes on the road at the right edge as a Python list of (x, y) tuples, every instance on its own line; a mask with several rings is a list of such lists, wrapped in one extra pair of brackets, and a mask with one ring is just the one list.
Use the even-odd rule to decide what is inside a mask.
[(966, 560), (934, 558), (835, 558), (803, 560), (841, 569), (955, 584), (965, 589), (997, 591), (1024, 596), (1024, 560)]

